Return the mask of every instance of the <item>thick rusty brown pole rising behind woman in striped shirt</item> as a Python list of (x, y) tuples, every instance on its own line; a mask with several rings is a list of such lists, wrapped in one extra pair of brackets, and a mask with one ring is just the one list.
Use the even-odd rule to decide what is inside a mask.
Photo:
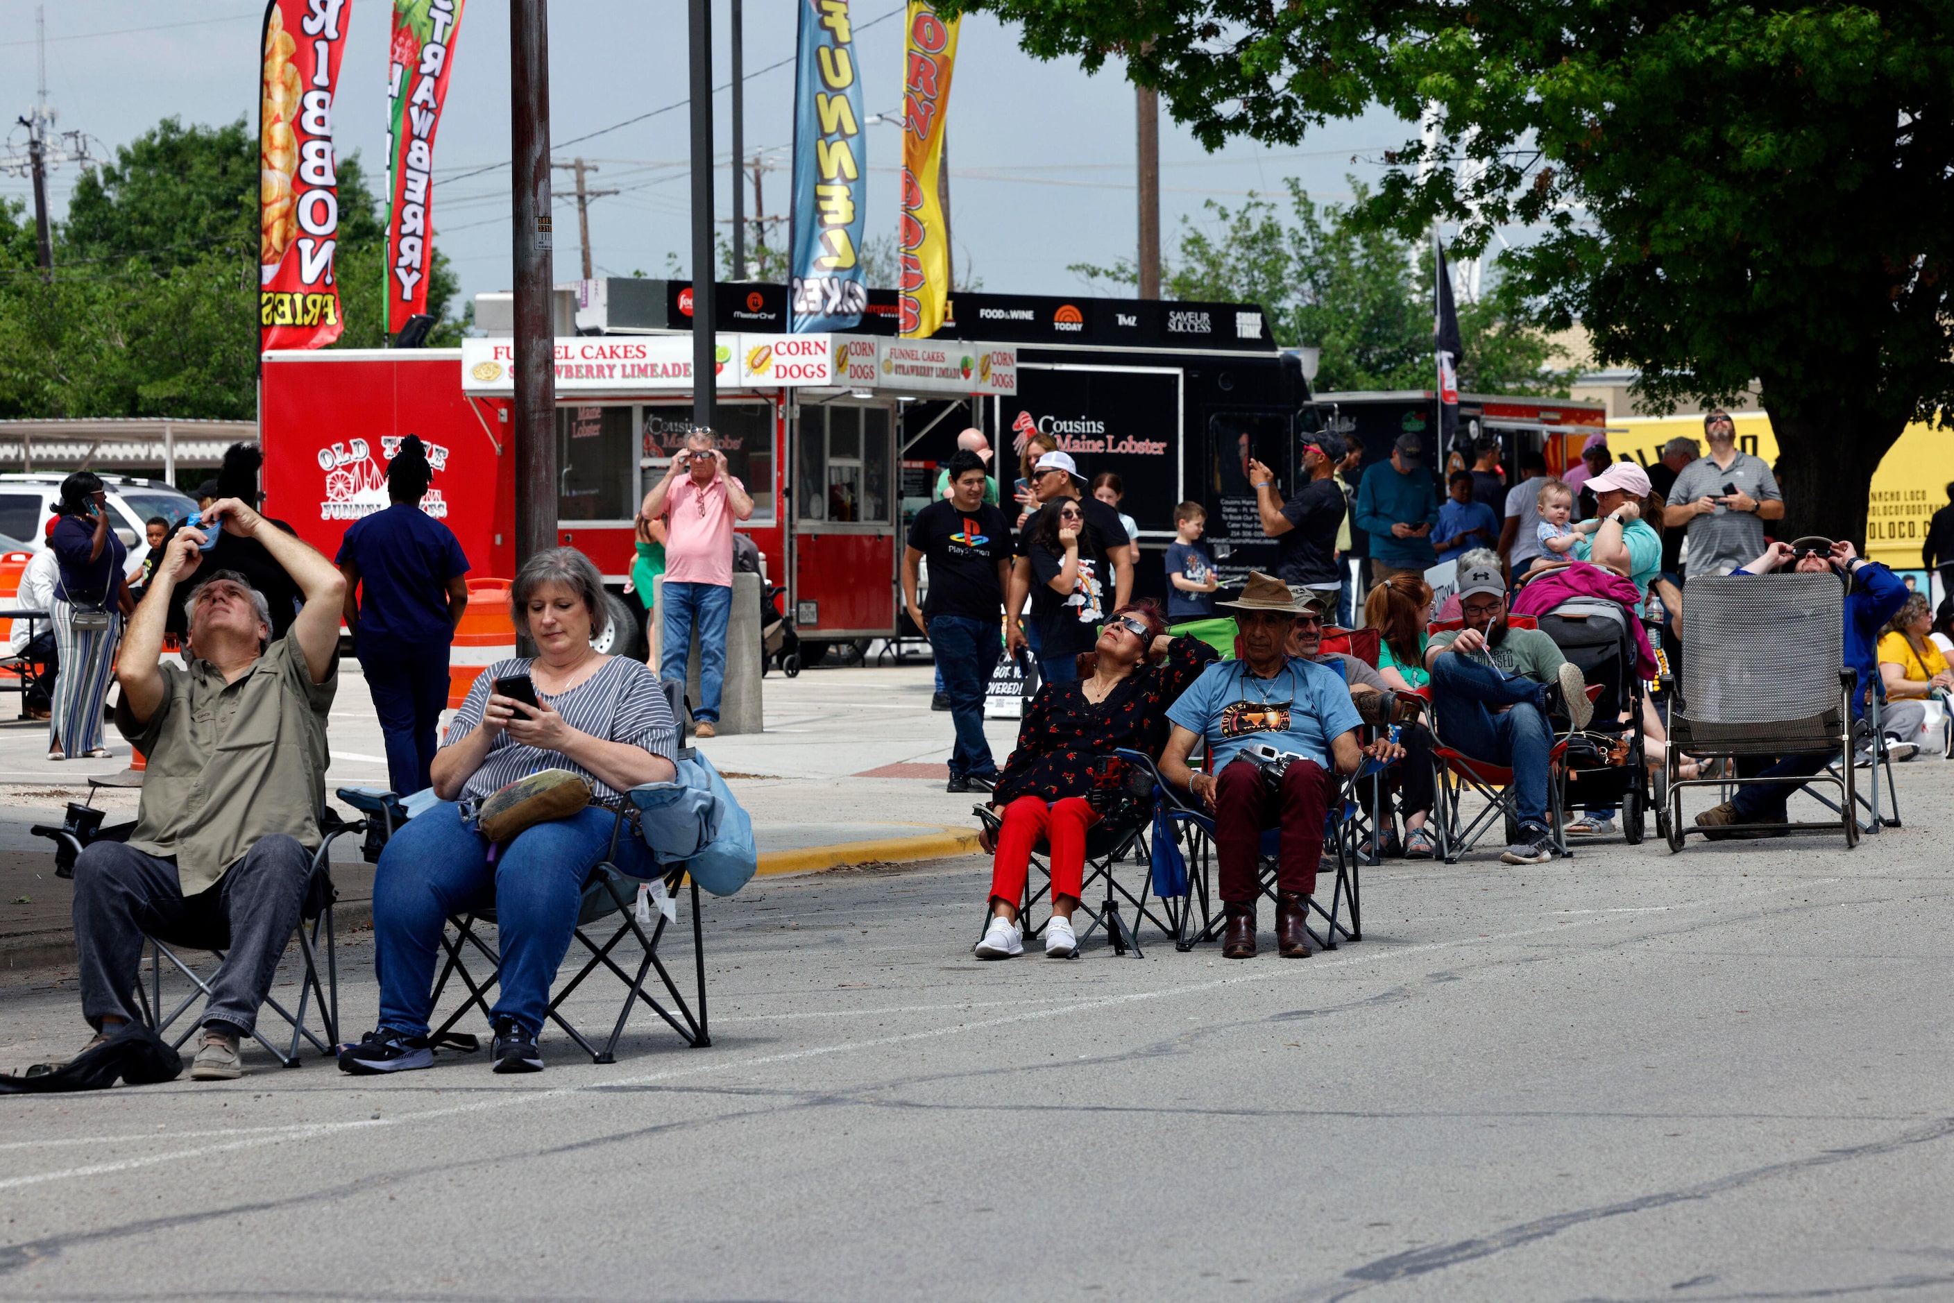
[(510, 0), (516, 264), (516, 565), (557, 545), (557, 371), (549, 221), (547, 0)]

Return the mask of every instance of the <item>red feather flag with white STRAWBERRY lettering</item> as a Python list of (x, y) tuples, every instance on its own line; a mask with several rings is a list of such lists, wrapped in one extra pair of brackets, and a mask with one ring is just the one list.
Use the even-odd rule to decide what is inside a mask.
[(467, 0), (393, 0), (387, 82), (387, 334), (428, 311), (434, 131)]

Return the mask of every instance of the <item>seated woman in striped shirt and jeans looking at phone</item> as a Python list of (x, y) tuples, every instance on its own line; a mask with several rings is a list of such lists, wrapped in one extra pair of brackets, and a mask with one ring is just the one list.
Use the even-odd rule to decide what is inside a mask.
[[(602, 656), (590, 635), (604, 619), (604, 578), (582, 553), (557, 547), (531, 557), (510, 590), (516, 629), (533, 660), (488, 666), (447, 727), (434, 756), (434, 793), (387, 842), (373, 877), (379, 1028), (340, 1053), (348, 1072), (399, 1072), (434, 1065), (426, 1045), (434, 1012), (434, 957), (449, 914), (494, 904), (502, 944), (494, 1020), (494, 1071), (543, 1067), (535, 1035), (549, 983), (571, 947), (584, 875), (604, 858), (619, 793), (676, 776), (678, 725), (657, 676), (639, 660)], [(496, 678), (528, 674), (541, 709), (490, 694)], [(490, 860), (490, 844), (457, 801), (487, 797), (541, 770), (580, 774), (592, 805), (526, 828)], [(658, 867), (635, 836), (619, 838), (617, 869), (653, 877)]]

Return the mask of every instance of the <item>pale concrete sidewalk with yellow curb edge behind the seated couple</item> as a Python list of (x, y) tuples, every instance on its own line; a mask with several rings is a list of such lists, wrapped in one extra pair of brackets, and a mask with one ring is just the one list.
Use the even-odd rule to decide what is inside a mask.
[[(807, 670), (764, 680), (766, 733), (698, 742), (752, 817), (760, 873), (893, 863), (977, 850), (971, 805), (944, 791), (954, 727), (930, 711), (932, 670), (920, 666)], [(998, 764), (1016, 727), (987, 727)], [(0, 723), (0, 969), (66, 963), (72, 891), (55, 877), (53, 844), (29, 828), (61, 822), (68, 801), (90, 801), (90, 776), (129, 766), (129, 744), (106, 729), (109, 760), (47, 760), (47, 725)], [(332, 709), (328, 793), (387, 785), (385, 746), (356, 660), (340, 666)], [(135, 819), (135, 789), (104, 787), (106, 822)], [(342, 807), (344, 809), (344, 807)], [(367, 926), (373, 865), (358, 838), (334, 844), (338, 924)]]

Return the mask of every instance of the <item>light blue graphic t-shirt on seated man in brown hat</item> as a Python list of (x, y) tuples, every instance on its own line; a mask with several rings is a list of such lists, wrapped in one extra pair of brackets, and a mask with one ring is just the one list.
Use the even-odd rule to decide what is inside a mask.
[(1167, 719), (1202, 736), (1215, 774), (1258, 742), (1329, 770), (1331, 742), (1364, 723), (1342, 674), (1294, 656), (1274, 678), (1249, 674), (1241, 660), (1211, 664), (1180, 694)]

